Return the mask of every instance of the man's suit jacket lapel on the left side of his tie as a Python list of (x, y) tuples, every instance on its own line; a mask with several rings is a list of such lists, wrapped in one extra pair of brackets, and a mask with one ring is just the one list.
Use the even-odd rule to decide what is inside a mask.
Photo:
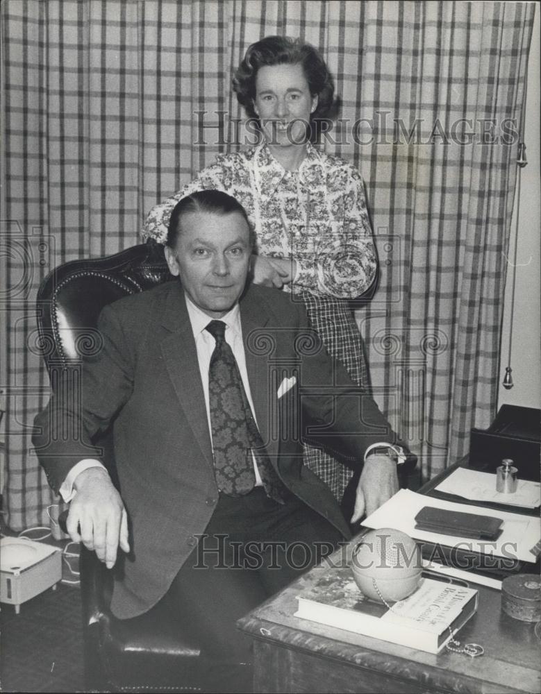
[[(171, 287), (161, 322), (171, 333), (161, 343), (169, 378), (201, 452), (214, 471), (197, 350), (180, 282)], [(187, 451), (187, 454), (189, 453), (190, 451)]]

